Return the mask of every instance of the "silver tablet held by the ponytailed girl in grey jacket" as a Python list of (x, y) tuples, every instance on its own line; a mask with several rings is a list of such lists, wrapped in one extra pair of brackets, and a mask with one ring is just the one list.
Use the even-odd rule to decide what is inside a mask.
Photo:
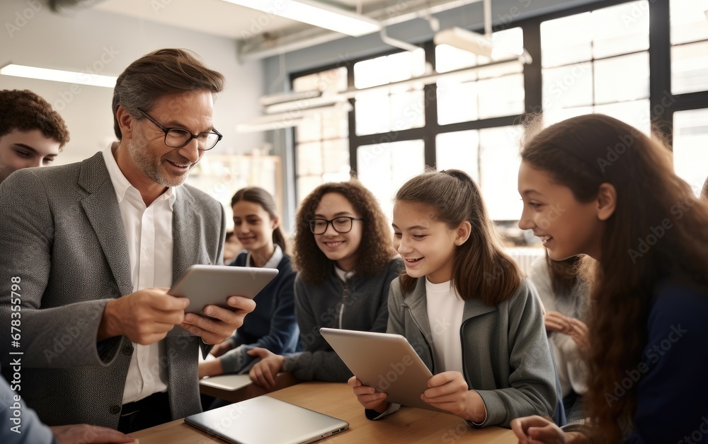
[(319, 332), (357, 379), (386, 392), (388, 402), (440, 411), (421, 399), (433, 373), (405, 337), (324, 327)]

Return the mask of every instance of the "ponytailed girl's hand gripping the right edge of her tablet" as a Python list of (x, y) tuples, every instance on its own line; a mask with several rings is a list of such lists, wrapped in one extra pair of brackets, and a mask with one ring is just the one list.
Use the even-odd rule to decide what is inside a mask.
[(484, 401), (479, 393), (469, 390), (462, 373), (438, 373), (428, 380), (428, 387), (421, 399), (431, 406), (475, 423), (483, 423), (486, 419)]

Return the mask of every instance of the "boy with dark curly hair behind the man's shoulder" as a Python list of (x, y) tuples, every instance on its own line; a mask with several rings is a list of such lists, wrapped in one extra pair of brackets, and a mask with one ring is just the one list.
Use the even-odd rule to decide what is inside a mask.
[(0, 182), (21, 168), (50, 165), (69, 141), (64, 119), (30, 90), (0, 90)]

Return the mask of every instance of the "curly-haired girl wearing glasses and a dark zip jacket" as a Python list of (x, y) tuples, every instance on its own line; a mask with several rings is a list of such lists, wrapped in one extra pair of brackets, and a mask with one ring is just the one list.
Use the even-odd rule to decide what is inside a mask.
[(320, 327), (384, 332), (389, 284), (401, 271), (391, 230), (376, 197), (358, 180), (326, 183), (311, 192), (296, 216), (295, 316), (304, 351), (278, 356), (265, 349), (251, 380), (273, 387), (279, 371), (301, 380), (346, 382), (351, 372)]

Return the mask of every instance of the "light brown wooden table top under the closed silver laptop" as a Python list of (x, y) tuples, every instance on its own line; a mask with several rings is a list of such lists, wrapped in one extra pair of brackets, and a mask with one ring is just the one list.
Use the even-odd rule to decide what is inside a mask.
[[(322, 441), (328, 444), (518, 443), (514, 433), (506, 428), (473, 429), (457, 416), (412, 407), (401, 407), (386, 419), (370, 421), (365, 418), (363, 407), (345, 383), (302, 382), (265, 396), (282, 399), (348, 421), (350, 425), (348, 431)], [(146, 428), (130, 435), (139, 438), (140, 444), (224, 442), (189, 426), (182, 419)]]

